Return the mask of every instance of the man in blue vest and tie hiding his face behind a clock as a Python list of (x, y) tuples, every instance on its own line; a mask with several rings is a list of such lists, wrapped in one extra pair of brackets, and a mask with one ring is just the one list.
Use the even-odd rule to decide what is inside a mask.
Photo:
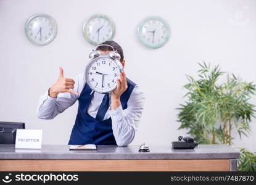
[[(120, 54), (125, 67), (122, 47), (115, 41), (105, 41)], [(101, 54), (112, 51), (109, 46), (99, 46)], [(40, 97), (38, 118), (53, 119), (79, 101), (75, 125), (68, 144), (117, 144), (127, 146), (133, 141), (144, 109), (145, 94), (138, 85), (126, 78), (125, 72), (117, 80), (117, 88), (110, 94), (94, 92), (85, 81), (85, 74), (75, 80), (64, 77), (60, 67), (59, 78)]]

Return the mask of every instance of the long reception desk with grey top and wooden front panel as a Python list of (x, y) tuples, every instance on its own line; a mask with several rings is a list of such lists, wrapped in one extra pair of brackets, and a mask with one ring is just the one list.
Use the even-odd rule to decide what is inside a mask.
[(0, 145), (0, 171), (236, 171), (239, 152), (226, 145), (199, 145), (175, 150), (152, 145), (97, 146), (97, 150), (69, 150), (67, 145), (15, 149)]

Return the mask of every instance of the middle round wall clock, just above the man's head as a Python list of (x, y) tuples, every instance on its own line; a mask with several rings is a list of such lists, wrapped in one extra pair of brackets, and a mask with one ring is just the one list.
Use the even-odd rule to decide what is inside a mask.
[(93, 15), (83, 25), (83, 36), (94, 46), (111, 40), (115, 35), (115, 24), (105, 15)]

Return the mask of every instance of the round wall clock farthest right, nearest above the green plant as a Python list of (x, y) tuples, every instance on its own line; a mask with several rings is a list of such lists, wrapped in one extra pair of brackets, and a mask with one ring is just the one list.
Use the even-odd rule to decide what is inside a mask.
[(147, 17), (138, 26), (138, 38), (147, 47), (157, 48), (167, 43), (170, 27), (160, 17)]

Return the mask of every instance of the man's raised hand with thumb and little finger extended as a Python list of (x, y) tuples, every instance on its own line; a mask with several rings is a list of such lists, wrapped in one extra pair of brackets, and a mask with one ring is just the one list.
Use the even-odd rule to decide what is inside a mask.
[(65, 78), (63, 73), (63, 68), (60, 67), (60, 74), (57, 82), (52, 85), (52, 87), (49, 89), (49, 96), (56, 98), (59, 93), (62, 92), (69, 92), (75, 95), (78, 95), (77, 92), (72, 91), (70, 89), (74, 88), (75, 81), (70, 78)]

